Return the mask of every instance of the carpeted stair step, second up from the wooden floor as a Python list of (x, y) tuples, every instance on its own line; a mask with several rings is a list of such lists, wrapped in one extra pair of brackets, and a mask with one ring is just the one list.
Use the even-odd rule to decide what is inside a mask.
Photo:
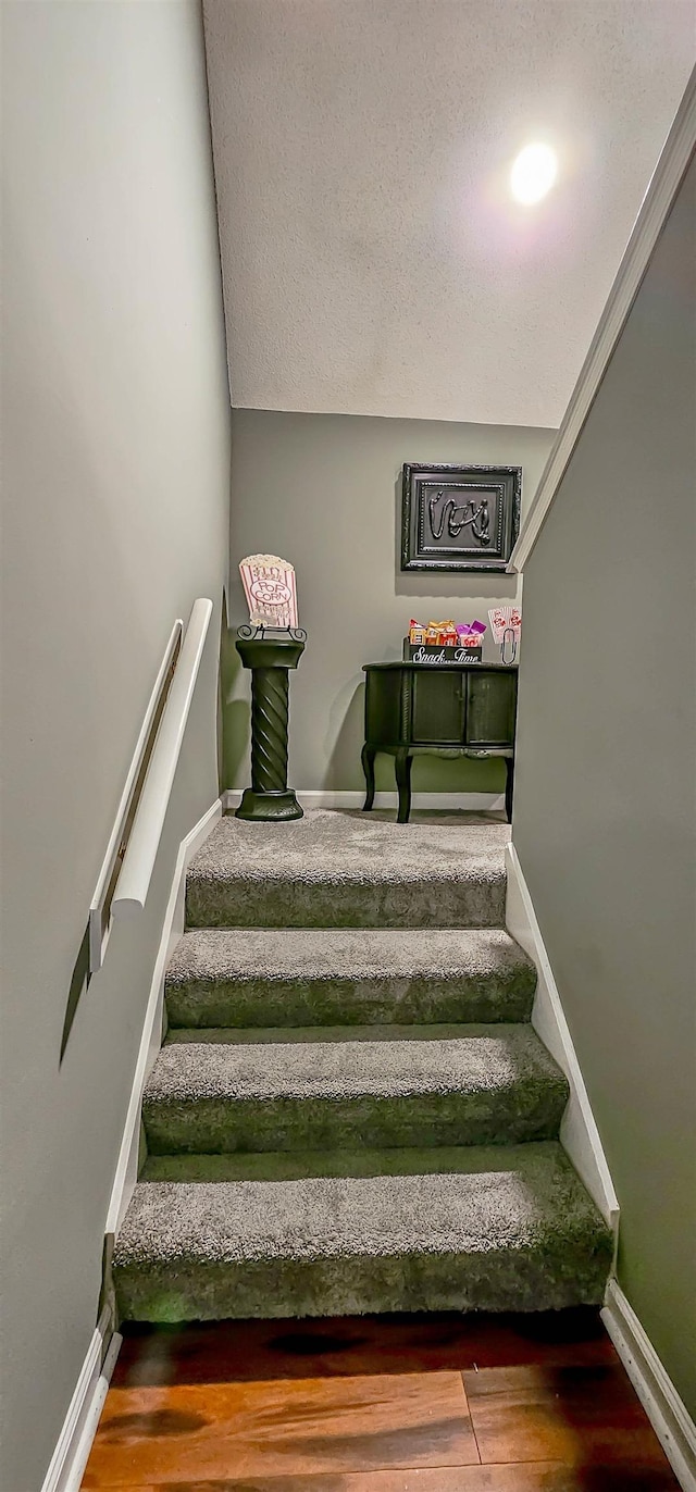
[(530, 1025), (284, 1034), (167, 1043), (143, 1095), (148, 1149), (517, 1144), (559, 1132), (568, 1082)]

